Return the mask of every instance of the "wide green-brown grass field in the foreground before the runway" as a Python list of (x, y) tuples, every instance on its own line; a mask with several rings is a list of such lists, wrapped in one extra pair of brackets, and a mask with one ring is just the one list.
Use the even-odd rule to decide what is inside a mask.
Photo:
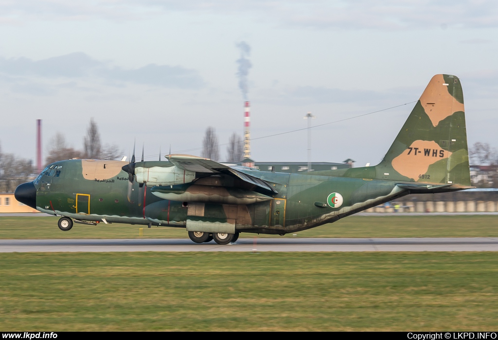
[(0, 254), (2, 331), (490, 331), (498, 253)]

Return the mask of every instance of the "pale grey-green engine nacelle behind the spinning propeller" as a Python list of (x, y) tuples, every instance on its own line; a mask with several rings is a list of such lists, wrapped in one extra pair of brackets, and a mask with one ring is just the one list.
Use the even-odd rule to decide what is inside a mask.
[(195, 179), (195, 171), (183, 170), (178, 167), (135, 167), (135, 176), (138, 183), (147, 186), (176, 185), (190, 183)]

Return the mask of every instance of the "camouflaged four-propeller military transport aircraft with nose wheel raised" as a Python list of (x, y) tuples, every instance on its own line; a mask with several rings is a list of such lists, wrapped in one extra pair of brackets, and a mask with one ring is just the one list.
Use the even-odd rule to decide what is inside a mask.
[[(380, 125), (380, 124), (379, 124)], [(133, 152), (134, 154), (134, 152)], [(471, 187), (462, 87), (436, 75), (383, 160), (374, 167), (279, 173), (209, 159), (68, 160), (49, 165), (15, 197), (79, 223), (186, 228), (196, 243), (225, 245), (239, 234), (284, 235), (335, 222), (411, 193)]]

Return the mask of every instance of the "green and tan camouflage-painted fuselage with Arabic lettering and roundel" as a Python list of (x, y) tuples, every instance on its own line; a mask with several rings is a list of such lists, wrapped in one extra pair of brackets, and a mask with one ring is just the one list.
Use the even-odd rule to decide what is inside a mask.
[[(145, 187), (142, 199), (138, 184), (134, 183), (128, 201), (127, 173), (121, 169), (116, 173), (121, 165), (116, 161), (94, 160), (61, 161), (50, 165), (60, 169), (60, 173), (57, 177), (50, 176), (51, 170), (47, 168), (34, 181), (37, 209), (81, 221), (105, 219), (111, 223), (151, 223), (171, 227), (186, 227), (188, 221), (196, 221), (231, 224), (238, 232), (285, 234), (330, 223), (407, 194), (407, 190), (398, 188), (392, 181), (238, 168), (266, 181), (278, 193), (254, 195), (254, 191), (248, 193), (248, 190), (231, 187), (231, 178), (222, 175), (172, 187)], [(100, 168), (98, 173), (95, 168)], [(153, 193), (161, 190), (172, 192), (173, 189), (179, 192), (178, 195), (192, 191), (197, 198), (195, 201), (161, 199)], [(233, 191), (238, 194), (236, 199), (254, 202), (227, 202), (234, 197)], [(340, 192), (343, 197), (340, 207), (333, 208), (327, 203), (333, 192)]]

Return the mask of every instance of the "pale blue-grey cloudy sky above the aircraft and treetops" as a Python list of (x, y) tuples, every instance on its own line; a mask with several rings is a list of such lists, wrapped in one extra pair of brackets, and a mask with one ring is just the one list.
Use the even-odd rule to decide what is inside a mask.
[(44, 157), (56, 133), (82, 149), (94, 118), (145, 160), (201, 155), (212, 126), (224, 161), (247, 98), (252, 159), (306, 162), (285, 132), (311, 112), (312, 161), (374, 165), (441, 73), (469, 146), (498, 147), (497, 37), (493, 0), (0, 0), (1, 151), (34, 162), (36, 119)]

